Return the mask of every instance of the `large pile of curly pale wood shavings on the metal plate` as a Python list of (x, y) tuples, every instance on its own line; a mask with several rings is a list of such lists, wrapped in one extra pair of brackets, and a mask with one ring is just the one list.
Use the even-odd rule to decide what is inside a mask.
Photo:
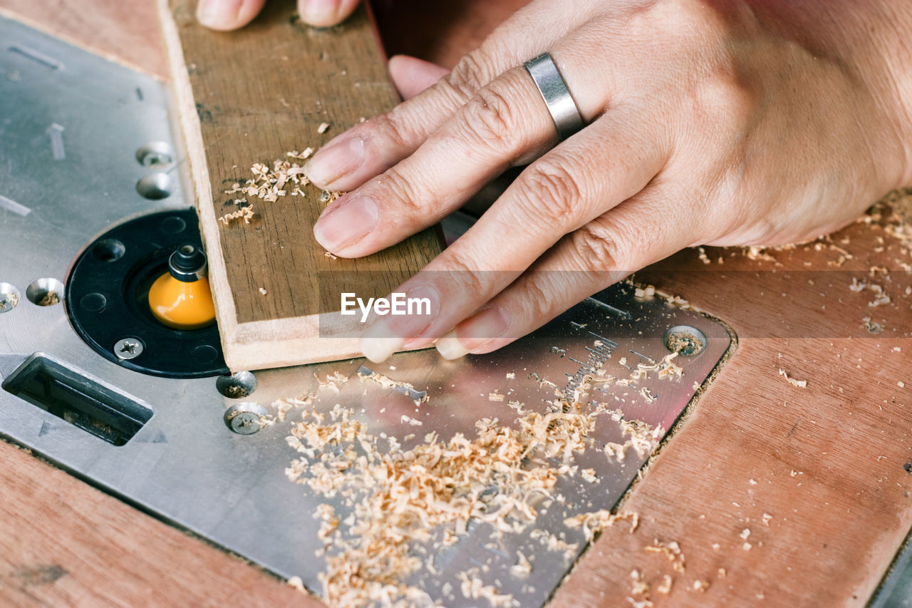
[[(656, 368), (658, 370), (658, 367)], [(650, 370), (651, 371), (651, 370)], [(402, 449), (392, 437), (372, 435), (355, 420), (355, 412), (337, 404), (327, 414), (308, 406), (312, 399), (283, 400), (284, 416), (292, 405), (304, 405), (301, 421), (292, 425), (288, 445), (299, 452), (285, 469), (287, 477), (325, 498), (340, 499), (351, 515), (337, 516), (324, 504), (319, 538), (326, 545), (326, 572), (320, 580), (329, 605), (433, 605), (420, 589), (404, 581), (426, 566), (410, 549), (414, 543), (455, 543), (469, 522), (487, 522), (495, 534), (521, 533), (535, 522), (539, 508), (554, 498), (558, 477), (575, 475), (571, 458), (593, 443), (590, 434), (599, 414), (611, 414), (633, 435), (637, 451), (658, 444), (660, 429), (640, 421), (625, 421), (619, 412), (595, 408), (583, 412), (579, 402), (565, 411), (539, 414), (523, 410), (513, 425), (482, 418), (475, 435), (456, 434), (440, 441), (436, 433), (423, 443)], [(625, 426), (626, 425), (626, 426)], [(617, 446), (626, 449), (625, 446)], [(619, 519), (637, 527), (635, 514), (613, 515), (600, 510), (567, 519), (569, 528), (582, 528), (592, 540), (598, 530)], [(574, 554), (578, 549), (554, 535), (539, 537), (552, 550)], [(432, 568), (432, 566), (430, 566)], [(518, 568), (531, 571), (527, 561)], [(478, 573), (459, 574), (460, 591), (492, 606), (513, 605), (513, 598), (482, 583)]]

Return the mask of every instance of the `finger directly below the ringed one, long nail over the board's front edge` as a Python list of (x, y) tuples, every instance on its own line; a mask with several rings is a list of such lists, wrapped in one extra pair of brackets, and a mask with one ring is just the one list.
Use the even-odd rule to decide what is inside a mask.
[[(655, 127), (631, 129), (640, 121), (615, 111), (529, 166), (465, 235), (398, 288), (434, 290), (439, 310), (433, 319), (374, 322), (361, 341), (368, 358), (382, 361), (400, 348), (430, 344), (510, 285), (562, 236), (639, 192), (667, 156), (652, 134)], [(593, 171), (593, 158), (605, 159), (604, 168)]]

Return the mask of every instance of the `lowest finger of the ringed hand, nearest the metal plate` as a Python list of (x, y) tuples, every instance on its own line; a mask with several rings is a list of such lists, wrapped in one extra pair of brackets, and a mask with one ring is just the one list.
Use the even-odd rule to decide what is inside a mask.
[(495, 351), (592, 294), (695, 242), (679, 200), (644, 193), (565, 236), (482, 310), (441, 337), (440, 355)]

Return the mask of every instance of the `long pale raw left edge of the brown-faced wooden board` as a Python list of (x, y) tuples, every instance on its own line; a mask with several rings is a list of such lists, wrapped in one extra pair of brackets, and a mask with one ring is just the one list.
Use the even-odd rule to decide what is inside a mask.
[[(193, 206), (200, 219), (202, 245), (209, 257), (209, 285), (212, 288), (212, 301), (215, 303), (215, 318), (222, 337), (222, 350), (227, 358), (231, 341), (237, 331), (237, 310), (231, 286), (228, 285), (228, 271), (220, 246), (206, 246), (207, 243), (219, 242), (219, 223), (214, 214), (212, 201), (212, 183), (209, 177), (209, 165), (206, 162), (206, 152), (202, 146), (202, 127), (200, 116), (196, 111), (196, 100), (190, 83), (190, 72), (183, 57), (183, 46), (178, 33), (177, 22), (171, 11), (171, 0), (157, 0), (159, 7), (159, 22), (161, 33), (165, 41), (165, 53), (168, 56), (168, 65), (171, 68), (171, 86), (182, 131), (182, 142), (187, 154), (187, 163), (190, 168)], [(205, 203), (205, 204), (203, 204)], [(202, 208), (208, 209), (202, 213)], [(214, 270), (214, 272), (213, 272)], [(238, 357), (235, 357), (238, 359)], [(245, 359), (241, 357), (240, 359)], [(230, 369), (235, 367), (228, 362)], [(239, 368), (244, 369), (244, 368)], [(254, 368), (262, 369), (262, 368)]]

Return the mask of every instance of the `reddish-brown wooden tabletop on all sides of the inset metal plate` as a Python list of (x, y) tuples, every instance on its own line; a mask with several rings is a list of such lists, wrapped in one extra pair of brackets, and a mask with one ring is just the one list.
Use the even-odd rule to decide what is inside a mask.
[[(391, 50), (448, 65), (508, 12), (448, 3), (464, 17), (433, 30), (420, 4), (377, 3), (388, 31), (401, 10), (427, 20), (424, 50), (396, 36)], [(164, 78), (151, 2), (0, 7)], [(552, 605), (626, 605), (634, 569), (657, 606), (865, 604), (912, 527), (912, 297), (901, 272), (912, 259), (885, 221), (759, 256), (690, 250), (639, 274), (729, 323), (738, 344), (625, 499), (637, 531), (606, 529)], [(852, 278), (883, 285), (891, 302), (870, 307)], [(883, 330), (870, 333), (865, 317)], [(0, 603), (322, 605), (5, 443), (0, 487)], [(679, 542), (683, 572), (645, 550), (654, 540)], [(668, 595), (656, 591), (666, 574)]]

